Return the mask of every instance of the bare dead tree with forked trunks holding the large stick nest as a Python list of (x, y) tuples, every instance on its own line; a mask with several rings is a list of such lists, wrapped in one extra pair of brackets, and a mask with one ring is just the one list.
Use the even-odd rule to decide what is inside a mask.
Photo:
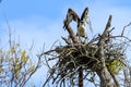
[[(111, 28), (111, 18), (112, 15), (109, 15), (102, 34), (94, 36), (91, 40), (85, 38), (84, 41), (74, 34), (69, 24), (67, 25), (66, 18), (64, 25), (69, 37), (62, 37), (62, 39), (67, 45), (59, 45), (41, 53), (49, 67), (49, 75), (43, 87), (49, 82), (52, 82), (56, 87), (84, 87), (84, 82), (93, 83), (96, 87), (120, 87), (123, 85), (126, 86), (126, 80), (119, 82), (118, 77), (121, 70), (127, 67), (126, 47), (131, 40), (124, 36), (127, 26), (123, 27), (121, 35), (111, 34), (115, 29), (115, 27)], [(57, 62), (50, 66), (50, 61)], [(127, 75), (129, 74), (124, 73), (126, 77), (128, 77)], [(97, 77), (99, 82), (95, 80)], [(122, 78), (124, 77), (122, 76)]]

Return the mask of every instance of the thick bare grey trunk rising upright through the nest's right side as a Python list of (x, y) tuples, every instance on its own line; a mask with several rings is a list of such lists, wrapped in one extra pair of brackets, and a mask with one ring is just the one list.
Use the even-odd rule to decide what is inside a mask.
[(100, 36), (99, 41), (98, 41), (99, 48), (97, 50), (97, 57), (100, 61), (100, 65), (99, 65), (99, 70), (97, 71), (97, 74), (99, 75), (99, 78), (100, 78), (100, 87), (110, 86), (110, 83), (111, 83), (111, 79), (109, 77), (110, 76), (109, 72), (108, 72), (106, 64), (105, 64), (105, 53), (104, 53), (105, 45), (106, 45), (105, 41), (109, 38), (110, 25), (111, 25), (111, 15), (109, 15), (106, 28), (105, 28), (105, 30), (104, 30), (104, 33)]

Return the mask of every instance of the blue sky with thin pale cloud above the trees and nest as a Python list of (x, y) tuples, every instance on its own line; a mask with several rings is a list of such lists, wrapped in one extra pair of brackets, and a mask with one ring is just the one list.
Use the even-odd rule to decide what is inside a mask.
[[(68, 36), (62, 28), (68, 9), (72, 8), (81, 15), (85, 7), (90, 9), (94, 30), (91, 34), (87, 28), (88, 37), (104, 30), (109, 14), (112, 15), (115, 34), (119, 34), (122, 27), (131, 22), (131, 0), (2, 0), (0, 3), (0, 42), (3, 47), (4, 42), (8, 44), (8, 27), (3, 11), (11, 29), (15, 30), (16, 40), (25, 48), (34, 41), (35, 52), (38, 53), (44, 44), (46, 49), (49, 49), (56, 40), (61, 41), (61, 36)], [(127, 29), (129, 37), (130, 28)], [(40, 71), (45, 71), (44, 67), (34, 77), (44, 78), (47, 71), (44, 73)]]

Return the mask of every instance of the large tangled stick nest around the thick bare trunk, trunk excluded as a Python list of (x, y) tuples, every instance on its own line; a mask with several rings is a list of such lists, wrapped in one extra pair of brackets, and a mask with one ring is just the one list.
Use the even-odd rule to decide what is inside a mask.
[[(100, 71), (99, 67), (102, 65), (99, 58), (99, 46), (97, 44), (99, 38), (100, 37), (97, 36), (87, 44), (81, 42), (75, 45), (57, 46), (53, 50), (45, 52), (45, 54), (52, 55), (52, 58), (48, 59), (48, 61), (58, 59), (57, 63), (52, 66), (52, 69), (50, 69), (50, 75), (53, 78), (52, 84), (63, 84), (66, 83), (66, 79), (70, 79), (70, 83), (75, 85), (75, 80), (78, 79), (81, 69), (84, 71), (83, 78), (88, 82), (93, 82), (96, 72)], [(117, 65), (116, 69), (118, 71), (117, 73), (114, 73), (116, 72), (116, 69), (109, 67), (110, 64), (112, 64), (112, 60), (120, 60), (122, 65), (124, 65), (126, 57), (123, 50), (123, 44), (117, 45), (109, 42), (104, 48), (105, 63), (110, 73), (118, 74), (122, 69), (118, 69), (120, 65)]]

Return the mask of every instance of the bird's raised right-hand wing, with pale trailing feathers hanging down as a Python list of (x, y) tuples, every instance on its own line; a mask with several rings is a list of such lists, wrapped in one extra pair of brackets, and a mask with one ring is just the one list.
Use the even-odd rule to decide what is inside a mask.
[(92, 24), (90, 21), (90, 15), (88, 15), (88, 8), (85, 8), (84, 12), (82, 13), (81, 21), (86, 22), (90, 25), (91, 32), (93, 32)]

